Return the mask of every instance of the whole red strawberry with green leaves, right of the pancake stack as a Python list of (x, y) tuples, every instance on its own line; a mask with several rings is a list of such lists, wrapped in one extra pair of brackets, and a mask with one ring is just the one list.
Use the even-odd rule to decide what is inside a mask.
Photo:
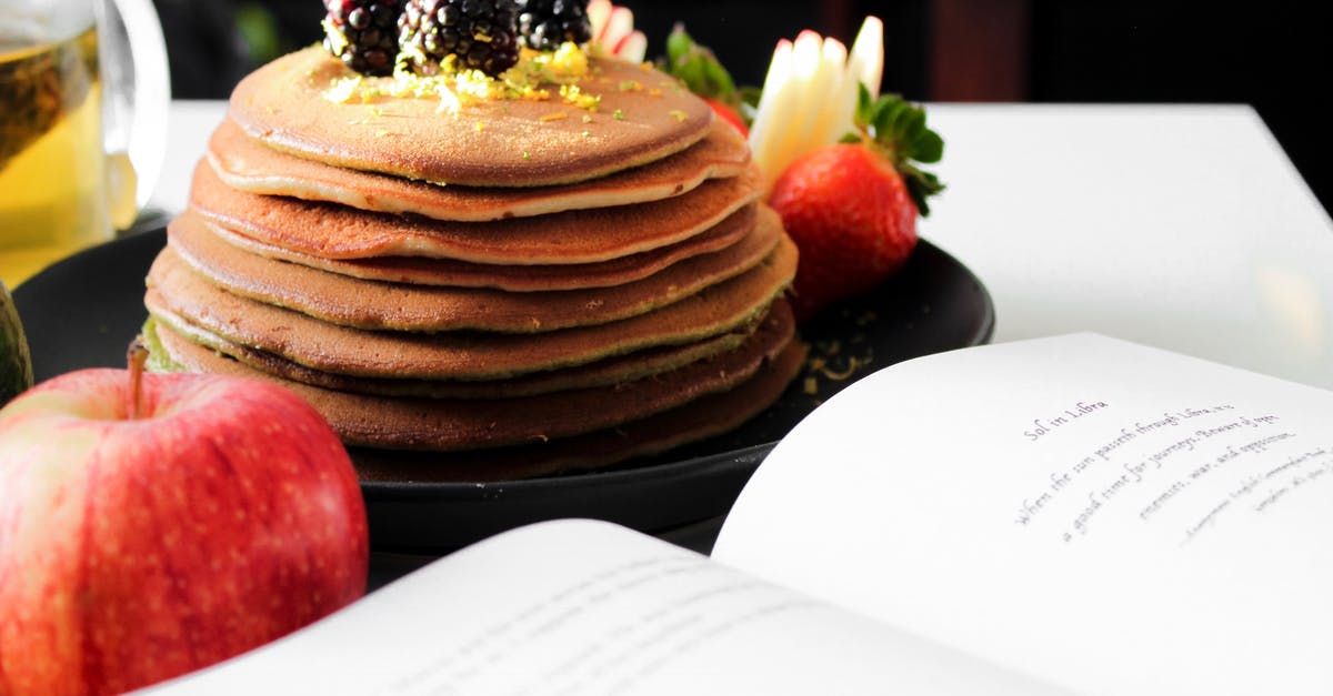
[(861, 85), (853, 123), (840, 144), (793, 161), (769, 193), (801, 253), (792, 292), (800, 320), (901, 268), (916, 247), (917, 215), (929, 215), (926, 197), (944, 188), (914, 164), (944, 153), (921, 108), (896, 95), (874, 100)]

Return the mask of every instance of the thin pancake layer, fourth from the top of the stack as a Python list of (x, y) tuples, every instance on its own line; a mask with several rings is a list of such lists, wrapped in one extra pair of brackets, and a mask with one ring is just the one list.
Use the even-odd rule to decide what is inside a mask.
[(419, 256), (323, 259), (247, 237), (209, 223), (192, 211), (176, 217), (172, 225), (203, 227), (208, 233), (245, 252), (361, 280), (456, 288), (496, 288), (509, 292), (548, 292), (623, 285), (643, 280), (677, 261), (725, 249), (753, 229), (756, 211), (757, 208), (753, 205), (741, 208), (717, 225), (669, 247), (621, 256), (609, 261), (564, 265), (495, 265)]

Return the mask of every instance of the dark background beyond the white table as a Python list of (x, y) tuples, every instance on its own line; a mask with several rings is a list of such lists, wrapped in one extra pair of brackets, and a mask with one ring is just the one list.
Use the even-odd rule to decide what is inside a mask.
[[(321, 36), (320, 0), (156, 0), (172, 88), (224, 97), (255, 65)], [(677, 20), (740, 84), (802, 28), (850, 41), (885, 21), (885, 91), (921, 101), (1238, 103), (1256, 108), (1333, 209), (1321, 104), (1333, 68), (1324, 3), (1172, 0), (619, 0), (649, 56)], [(948, 137), (948, 133), (944, 133)], [(1152, 165), (1152, 152), (1126, 152)]]

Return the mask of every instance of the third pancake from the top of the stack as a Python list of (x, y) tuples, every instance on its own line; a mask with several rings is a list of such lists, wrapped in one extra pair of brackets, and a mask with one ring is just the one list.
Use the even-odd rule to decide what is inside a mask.
[(228, 187), (212, 167), (195, 169), (189, 207), (209, 221), (265, 244), (325, 259), (424, 256), (481, 264), (600, 263), (680, 243), (720, 224), (760, 196), (753, 167), (660, 201), (568, 211), (492, 223), (452, 223), (368, 213), (333, 203), (259, 196)]

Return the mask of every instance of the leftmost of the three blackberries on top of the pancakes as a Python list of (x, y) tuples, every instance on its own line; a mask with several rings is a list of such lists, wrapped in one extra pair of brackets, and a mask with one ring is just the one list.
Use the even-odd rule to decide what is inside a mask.
[(324, 0), (324, 48), (363, 75), (389, 75), (400, 0)]

